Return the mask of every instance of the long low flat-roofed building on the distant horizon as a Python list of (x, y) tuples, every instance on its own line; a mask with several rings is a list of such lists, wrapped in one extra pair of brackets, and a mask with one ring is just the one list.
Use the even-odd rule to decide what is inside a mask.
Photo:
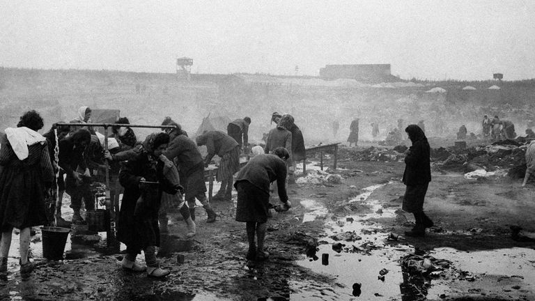
[(320, 68), (323, 79), (357, 79), (376, 82), (391, 79), (390, 64), (325, 65)]

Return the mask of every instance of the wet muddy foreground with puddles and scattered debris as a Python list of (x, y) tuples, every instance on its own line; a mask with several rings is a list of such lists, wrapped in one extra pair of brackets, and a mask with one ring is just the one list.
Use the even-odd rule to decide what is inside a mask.
[[(307, 167), (317, 165), (309, 160)], [(184, 240), (184, 222), (170, 214), (158, 253), (172, 271), (165, 280), (121, 270), (123, 248), (110, 249), (105, 233), (86, 226), (70, 233), (64, 261), (40, 256), (38, 231), (32, 242), (37, 268), (23, 280), (15, 235), (0, 294), (6, 300), (535, 300), (535, 243), (513, 240), (510, 229), (535, 231), (534, 187), (433, 172), (424, 208), (435, 226), (425, 238), (409, 238), (403, 233), (414, 218), (398, 210), (403, 168), (403, 162), (353, 162), (342, 155), (339, 169), (327, 169), (342, 176), (339, 183), (290, 185), (293, 208), (270, 219), (265, 263), (245, 260), (247, 236), (245, 224), (234, 221), (235, 195), (233, 203), (213, 203), (214, 224), (197, 210), (193, 241)], [(428, 258), (425, 270), (403, 263), (410, 254)]]

